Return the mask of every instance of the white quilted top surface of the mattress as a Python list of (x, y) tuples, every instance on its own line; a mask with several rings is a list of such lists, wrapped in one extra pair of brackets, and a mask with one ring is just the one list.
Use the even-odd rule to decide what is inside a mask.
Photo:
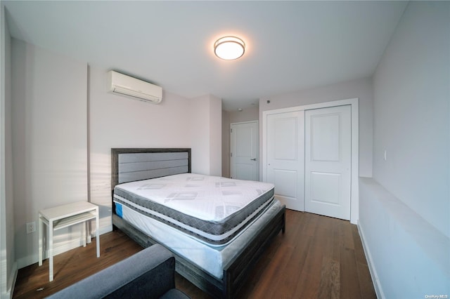
[(226, 221), (231, 214), (274, 187), (269, 182), (233, 180), (181, 173), (117, 185), (180, 213), (207, 221)]

